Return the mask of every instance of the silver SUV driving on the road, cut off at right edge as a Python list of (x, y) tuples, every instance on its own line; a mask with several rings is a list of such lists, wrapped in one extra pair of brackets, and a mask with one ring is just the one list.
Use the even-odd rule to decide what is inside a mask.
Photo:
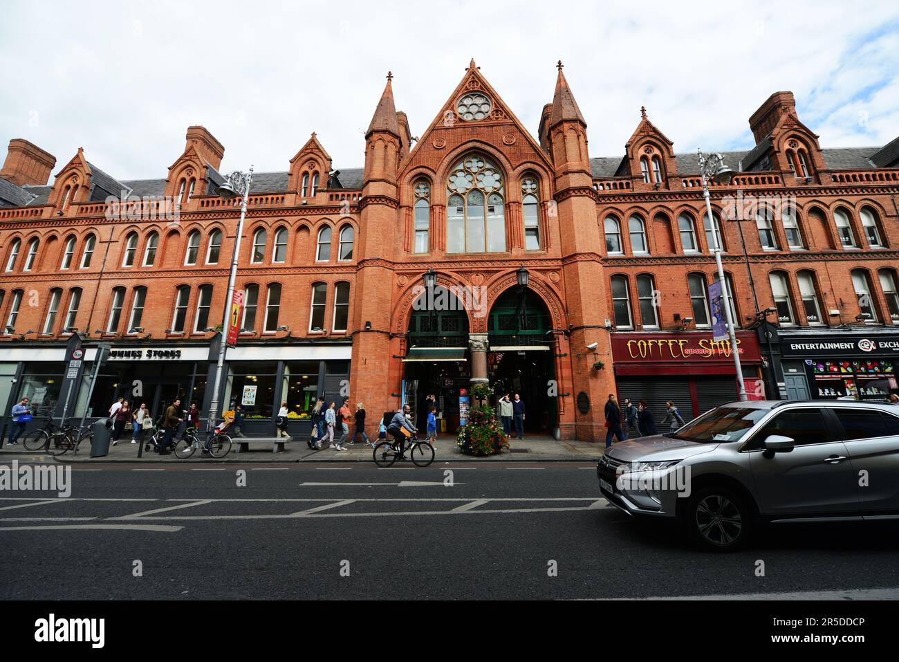
[(899, 520), (899, 407), (732, 402), (613, 444), (596, 471), (612, 505), (676, 519), (710, 550), (740, 548), (758, 523)]

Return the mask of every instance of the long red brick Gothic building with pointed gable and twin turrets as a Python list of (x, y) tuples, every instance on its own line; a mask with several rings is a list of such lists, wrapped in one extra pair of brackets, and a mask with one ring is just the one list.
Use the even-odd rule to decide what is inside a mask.
[[(712, 187), (710, 223), (695, 155), (676, 153), (645, 112), (622, 154), (590, 156), (561, 67), (536, 137), (474, 62), (420, 138), (388, 79), (362, 167), (335, 168), (313, 133), (285, 172), (254, 174), (224, 402), (250, 403), (255, 432), (281, 400), (300, 413), (342, 392), (378, 415), (433, 393), (452, 428), (460, 391), (478, 381), (521, 392), (535, 433), (603, 438), (616, 391), (698, 414), (736, 394), (730, 345), (708, 328), (713, 231), (753, 397), (766, 376), (780, 397), (882, 397), (899, 353), (899, 139), (821, 148), (788, 92), (750, 126), (755, 147), (723, 155), (738, 174)], [(239, 215), (215, 192), (223, 155), (191, 127), (165, 178), (118, 181), (80, 148), (58, 167), (11, 140), (0, 171), (7, 411), (25, 395), (61, 412), (76, 331), (88, 365), (97, 342), (114, 354), (69, 412), (102, 414), (117, 394), (209, 406)]]

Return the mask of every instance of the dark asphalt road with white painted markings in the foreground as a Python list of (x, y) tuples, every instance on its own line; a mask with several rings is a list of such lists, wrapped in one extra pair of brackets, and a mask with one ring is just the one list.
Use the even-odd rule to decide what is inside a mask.
[(0, 599), (899, 595), (899, 525), (781, 526), (711, 554), (607, 506), (586, 464), (117, 465), (72, 481), (69, 498), (0, 492)]

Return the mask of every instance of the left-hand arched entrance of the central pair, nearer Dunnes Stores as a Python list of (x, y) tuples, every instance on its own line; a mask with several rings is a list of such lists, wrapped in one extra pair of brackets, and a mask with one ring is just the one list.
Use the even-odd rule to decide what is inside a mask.
[(434, 396), (446, 431), (458, 429), (459, 389), (468, 388), (468, 316), (462, 302), (442, 286), (424, 292), (413, 304), (403, 362), (403, 401), (415, 425), (424, 430), (425, 402)]

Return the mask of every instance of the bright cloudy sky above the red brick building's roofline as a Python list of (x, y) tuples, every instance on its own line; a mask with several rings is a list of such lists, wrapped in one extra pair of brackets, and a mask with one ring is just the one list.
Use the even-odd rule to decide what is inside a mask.
[(594, 157), (622, 154), (641, 105), (679, 152), (751, 148), (749, 116), (779, 90), (824, 147), (899, 135), (895, 0), (4, 0), (0, 140), (58, 168), (83, 146), (140, 179), (165, 177), (191, 124), (225, 146), (223, 170), (257, 172), (286, 170), (316, 131), (355, 167), (388, 70), (420, 135), (470, 58), (532, 133), (562, 59)]

